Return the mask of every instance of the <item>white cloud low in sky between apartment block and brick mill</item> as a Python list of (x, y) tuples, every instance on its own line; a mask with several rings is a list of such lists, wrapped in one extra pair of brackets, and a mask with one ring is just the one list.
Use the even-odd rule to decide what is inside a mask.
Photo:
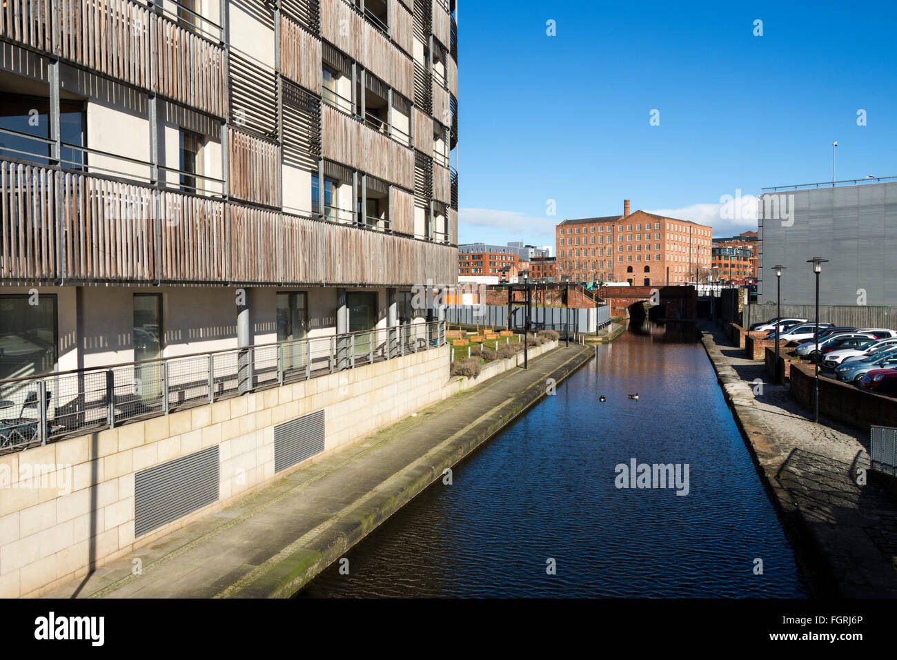
[(487, 242), (504, 245), (523, 241), (532, 245), (553, 245), (554, 217), (526, 216), (518, 211), (493, 208), (458, 209), (458, 242)]

